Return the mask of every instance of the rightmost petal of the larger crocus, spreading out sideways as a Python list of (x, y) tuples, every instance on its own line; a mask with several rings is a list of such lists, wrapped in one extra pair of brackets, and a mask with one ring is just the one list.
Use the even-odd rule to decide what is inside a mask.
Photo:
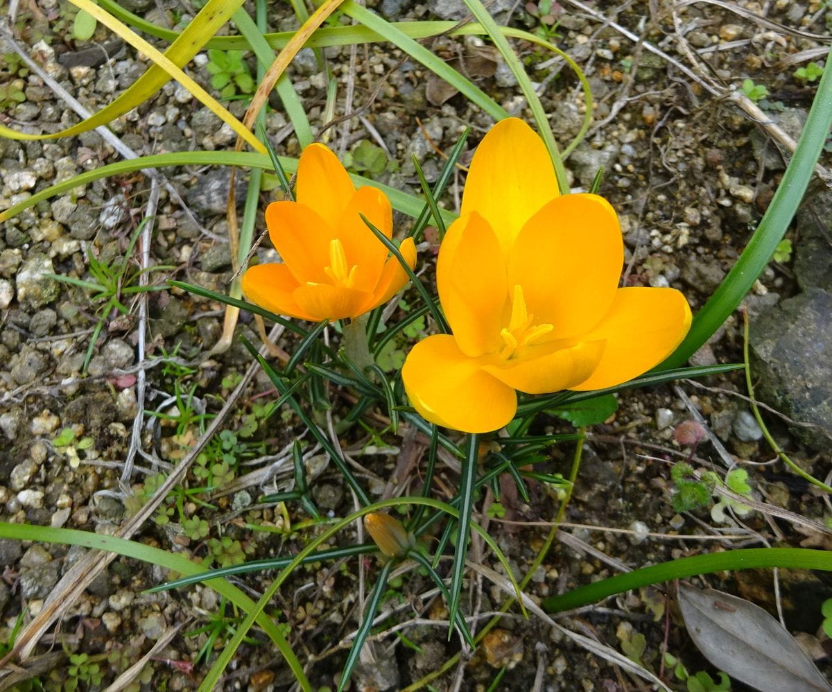
[(571, 389), (614, 387), (661, 363), (691, 327), (691, 308), (676, 289), (618, 289), (612, 308), (582, 339), (606, 339), (595, 372)]

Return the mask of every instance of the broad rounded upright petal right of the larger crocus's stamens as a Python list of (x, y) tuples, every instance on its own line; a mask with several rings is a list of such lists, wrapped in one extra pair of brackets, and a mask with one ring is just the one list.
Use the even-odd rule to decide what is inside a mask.
[(615, 299), (624, 262), (618, 217), (597, 195), (563, 195), (522, 227), (508, 263), (509, 288), (522, 286), (535, 322), (552, 338), (592, 329)]

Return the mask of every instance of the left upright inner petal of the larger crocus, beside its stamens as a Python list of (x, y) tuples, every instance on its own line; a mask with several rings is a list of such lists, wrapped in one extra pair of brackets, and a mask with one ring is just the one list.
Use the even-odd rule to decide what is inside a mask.
[(508, 299), (505, 260), (497, 235), (478, 212), (459, 217), (445, 234), (436, 284), (463, 353), (474, 358), (497, 351)]

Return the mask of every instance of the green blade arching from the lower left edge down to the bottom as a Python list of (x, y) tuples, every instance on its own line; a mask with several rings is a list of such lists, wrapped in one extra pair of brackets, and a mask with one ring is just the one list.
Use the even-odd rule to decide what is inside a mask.
[[(196, 575), (203, 571), (201, 565), (191, 562), (186, 557), (176, 555), (159, 548), (146, 546), (138, 541), (127, 541), (124, 538), (106, 536), (100, 533), (89, 531), (76, 531), (74, 529), (51, 528), (47, 526), (31, 526), (29, 524), (8, 524), (0, 521), (0, 538), (12, 538), (16, 541), (35, 541), (42, 543), (60, 543), (65, 546), (83, 546), (98, 551), (114, 552), (116, 555), (123, 555), (134, 560), (146, 562), (150, 565), (159, 565), (167, 570), (181, 572), (186, 575)], [(255, 601), (252, 601), (236, 586), (221, 578), (212, 578), (206, 581), (220, 596), (224, 596), (240, 610), (253, 612)], [(280, 629), (271, 618), (263, 612), (256, 615), (256, 622), (263, 628), (265, 633), (275, 643), (280, 654), (286, 660), (295, 679), (303, 690), (311, 690), (309, 680), (306, 680), (303, 666), (295, 656), (285, 636), (280, 634)], [(254, 619), (253, 619), (254, 620)]]

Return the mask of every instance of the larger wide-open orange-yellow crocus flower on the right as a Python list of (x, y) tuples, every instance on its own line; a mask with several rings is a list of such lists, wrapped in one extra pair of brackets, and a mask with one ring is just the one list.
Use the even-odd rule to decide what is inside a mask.
[(499, 122), (473, 157), (461, 215), (439, 249), (439, 300), (453, 334), (408, 354), (404, 388), (426, 420), (467, 433), (502, 428), (517, 391), (626, 382), (684, 338), (676, 289), (618, 288), (616, 212), (598, 195), (558, 195), (542, 140)]

